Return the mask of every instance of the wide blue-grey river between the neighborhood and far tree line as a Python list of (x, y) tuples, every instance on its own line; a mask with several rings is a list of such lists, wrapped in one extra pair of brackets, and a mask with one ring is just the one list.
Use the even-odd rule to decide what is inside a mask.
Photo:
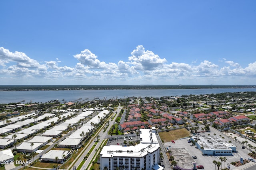
[[(160, 90), (54, 90), (54, 91), (0, 91), (0, 104), (11, 102), (29, 103), (48, 102), (51, 100), (64, 100), (65, 102), (94, 100), (94, 98), (106, 100), (125, 97), (162, 97), (182, 96), (190, 94), (218, 94), (224, 92), (255, 92), (256, 88), (213, 88), (213, 89), (160, 89)], [(80, 99), (82, 98), (82, 99)], [(80, 99), (80, 100), (78, 100)]]

